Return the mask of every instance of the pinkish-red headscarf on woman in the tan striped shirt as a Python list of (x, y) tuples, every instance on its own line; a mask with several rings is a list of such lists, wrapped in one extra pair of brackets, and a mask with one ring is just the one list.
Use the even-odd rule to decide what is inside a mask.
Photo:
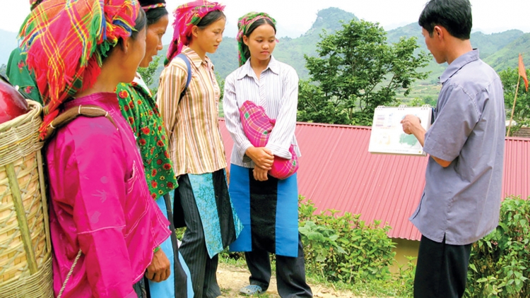
[(225, 6), (206, 0), (196, 0), (177, 7), (174, 12), (175, 23), (173, 23), (173, 29), (175, 31), (173, 32), (173, 40), (167, 50), (164, 65), (167, 66), (175, 56), (182, 52), (182, 47), (189, 44), (194, 25), (199, 24), (201, 19), (209, 12), (223, 11), (224, 9)]

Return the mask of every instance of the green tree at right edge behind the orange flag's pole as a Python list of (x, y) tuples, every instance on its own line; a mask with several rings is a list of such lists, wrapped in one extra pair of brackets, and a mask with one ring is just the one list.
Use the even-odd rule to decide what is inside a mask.
[[(502, 81), (502, 88), (505, 90), (506, 119), (510, 120), (519, 71), (517, 68), (508, 68), (505, 71), (501, 71), (499, 76)], [(530, 70), (526, 71), (526, 76), (530, 77)], [(517, 131), (521, 126), (530, 125), (530, 92), (525, 90), (523, 79), (519, 83), (519, 92), (517, 93), (517, 102), (515, 102), (514, 109), (514, 121), (517, 122), (517, 125), (512, 127), (512, 132)]]

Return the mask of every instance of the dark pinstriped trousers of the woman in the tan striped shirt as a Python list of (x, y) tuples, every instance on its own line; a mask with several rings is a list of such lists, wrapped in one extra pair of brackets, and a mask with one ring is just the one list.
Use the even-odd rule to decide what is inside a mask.
[(179, 251), (189, 267), (189, 273), (192, 275), (194, 297), (218, 297), (221, 294), (216, 276), (218, 255), (213, 258), (208, 256), (201, 215), (197, 209), (188, 175), (180, 176), (178, 183), (179, 187), (175, 190), (175, 205), (180, 203), (181, 206), (179, 207), (182, 207), (184, 222), (187, 227)]

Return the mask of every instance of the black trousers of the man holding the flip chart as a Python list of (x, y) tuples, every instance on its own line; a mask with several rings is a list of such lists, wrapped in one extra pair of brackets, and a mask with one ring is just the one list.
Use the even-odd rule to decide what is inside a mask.
[(466, 290), (471, 244), (450, 245), (422, 236), (414, 278), (414, 297), (462, 297)]

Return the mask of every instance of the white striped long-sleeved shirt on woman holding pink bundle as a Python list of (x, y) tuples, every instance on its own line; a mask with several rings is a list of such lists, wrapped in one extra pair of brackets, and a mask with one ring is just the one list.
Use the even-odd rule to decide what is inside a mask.
[(239, 114), (239, 107), (247, 100), (264, 107), (267, 116), (276, 119), (265, 148), (269, 148), (273, 155), (290, 159), (289, 147), (293, 144), (296, 154), (300, 156), (295, 137), (298, 107), (298, 75), (295, 68), (271, 56), (269, 66), (258, 79), (249, 59), (226, 78), (223, 109), (226, 128), (234, 140), (230, 162), (253, 168), (254, 162), (245, 155), (252, 144), (245, 136)]

